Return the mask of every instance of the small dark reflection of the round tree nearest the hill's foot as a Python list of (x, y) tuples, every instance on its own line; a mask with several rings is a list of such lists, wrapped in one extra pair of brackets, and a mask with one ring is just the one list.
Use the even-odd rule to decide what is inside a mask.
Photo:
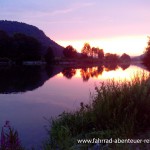
[(63, 76), (68, 79), (71, 79), (76, 74), (76, 69), (72, 69), (70, 67), (63, 69), (62, 71)]

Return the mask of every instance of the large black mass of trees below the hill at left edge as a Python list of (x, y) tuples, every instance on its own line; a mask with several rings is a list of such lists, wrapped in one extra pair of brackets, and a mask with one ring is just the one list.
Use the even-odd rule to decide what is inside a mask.
[(21, 33), (11, 37), (0, 31), (0, 58), (15, 62), (40, 60), (40, 48), (41, 44), (33, 37)]

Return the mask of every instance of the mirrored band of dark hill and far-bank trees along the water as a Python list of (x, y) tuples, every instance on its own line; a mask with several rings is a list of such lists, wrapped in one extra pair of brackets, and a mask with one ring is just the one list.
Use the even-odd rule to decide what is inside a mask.
[[(18, 93), (35, 90), (57, 74), (67, 79), (80, 77), (83, 82), (90, 78), (111, 78), (112, 71), (125, 75), (130, 64), (104, 64), (96, 67), (63, 66), (0, 66), (0, 93)], [(108, 72), (109, 74), (106, 74)]]

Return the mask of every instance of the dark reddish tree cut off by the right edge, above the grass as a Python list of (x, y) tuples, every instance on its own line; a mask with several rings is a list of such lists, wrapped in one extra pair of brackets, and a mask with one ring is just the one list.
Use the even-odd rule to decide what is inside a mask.
[(148, 37), (147, 47), (144, 52), (143, 64), (150, 68), (150, 37)]

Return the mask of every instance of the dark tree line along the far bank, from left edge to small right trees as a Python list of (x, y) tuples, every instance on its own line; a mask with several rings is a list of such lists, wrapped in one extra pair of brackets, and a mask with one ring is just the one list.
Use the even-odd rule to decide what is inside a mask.
[[(73, 46), (69, 45), (64, 48), (63, 54), (65, 58), (82, 58), (82, 59), (98, 59), (105, 62), (118, 62), (120, 59), (129, 61), (130, 56), (123, 54), (119, 57), (117, 54), (104, 53), (99, 47), (91, 47), (89, 43), (85, 43), (81, 53), (78, 53)], [(0, 62), (12, 61), (22, 63), (23, 61), (46, 61), (48, 64), (55, 61), (53, 48), (49, 47), (45, 55), (42, 54), (42, 45), (34, 37), (27, 36), (22, 33), (15, 33), (10, 36), (5, 31), (0, 30)]]

